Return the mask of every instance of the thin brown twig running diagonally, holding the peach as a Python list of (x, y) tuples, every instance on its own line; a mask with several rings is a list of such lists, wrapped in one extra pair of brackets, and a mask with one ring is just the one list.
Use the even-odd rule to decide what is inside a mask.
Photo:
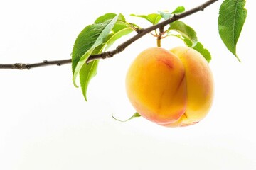
[[(133, 42), (138, 40), (139, 38), (142, 38), (144, 35), (151, 33), (151, 31), (156, 30), (156, 29), (163, 29), (164, 26), (169, 25), (170, 23), (173, 23), (174, 21), (177, 21), (181, 18), (185, 18), (186, 16), (190, 16), (193, 13), (196, 13), (198, 11), (203, 11), (206, 7), (210, 6), (211, 4), (215, 3), (218, 0), (209, 0), (206, 1), (204, 4), (201, 4), (201, 6), (198, 6), (196, 8), (192, 8), (191, 10), (185, 11), (180, 14), (174, 15), (172, 18), (169, 18), (165, 21), (162, 21), (161, 23), (158, 23), (154, 26), (150, 26), (149, 28), (141, 28), (137, 30), (137, 35), (134, 35), (132, 38), (129, 40), (123, 42), (121, 45), (117, 46), (115, 50), (112, 51), (107, 51), (107, 52), (102, 52), (98, 55), (90, 55), (87, 59), (87, 63), (92, 62), (93, 60), (98, 60), (98, 59), (105, 59), (105, 58), (110, 58), (113, 57), (114, 55), (117, 55), (119, 52), (122, 52), (126, 47), (131, 45)], [(15, 63), (15, 64), (0, 64), (0, 69), (31, 69), (34, 67), (43, 67), (43, 66), (48, 66), (48, 65), (63, 65), (63, 64), (69, 64), (71, 63), (71, 59), (67, 60), (55, 60), (55, 61), (43, 61), (35, 64), (23, 64), (23, 63)]]

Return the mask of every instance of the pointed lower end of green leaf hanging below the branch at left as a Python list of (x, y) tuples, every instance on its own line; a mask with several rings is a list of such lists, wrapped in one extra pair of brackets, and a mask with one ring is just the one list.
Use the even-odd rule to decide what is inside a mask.
[(87, 101), (87, 87), (90, 83), (90, 80), (97, 74), (98, 63), (99, 60), (94, 60), (89, 64), (84, 64), (80, 69), (80, 85), (82, 88), (82, 94), (85, 97), (85, 101)]

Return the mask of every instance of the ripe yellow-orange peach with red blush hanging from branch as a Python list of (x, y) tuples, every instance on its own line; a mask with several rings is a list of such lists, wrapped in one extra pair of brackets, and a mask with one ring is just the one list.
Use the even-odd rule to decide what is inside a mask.
[(168, 127), (198, 123), (213, 103), (208, 62), (190, 47), (144, 50), (128, 69), (126, 89), (137, 113)]

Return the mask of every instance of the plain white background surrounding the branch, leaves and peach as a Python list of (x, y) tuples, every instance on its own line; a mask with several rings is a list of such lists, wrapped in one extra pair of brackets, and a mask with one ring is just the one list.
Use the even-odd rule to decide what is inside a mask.
[[(0, 63), (68, 59), (80, 30), (107, 12), (149, 26), (129, 14), (189, 9), (204, 1), (1, 1)], [(112, 118), (134, 113), (124, 78), (134, 57), (156, 46), (151, 35), (100, 61), (87, 103), (81, 89), (73, 86), (70, 64), (1, 69), (0, 169), (256, 169), (253, 3), (247, 1), (247, 21), (238, 42), (241, 63), (218, 35), (221, 1), (183, 19), (210, 50), (215, 77), (213, 107), (191, 127), (164, 128), (144, 118), (119, 123)], [(174, 38), (162, 43), (168, 49), (183, 45)]]

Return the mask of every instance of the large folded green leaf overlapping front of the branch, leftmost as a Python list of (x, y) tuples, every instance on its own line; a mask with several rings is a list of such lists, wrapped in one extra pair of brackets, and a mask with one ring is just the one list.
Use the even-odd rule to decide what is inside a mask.
[(75, 81), (78, 73), (83, 65), (86, 64), (86, 60), (96, 47), (102, 45), (107, 40), (114, 24), (117, 22), (118, 16), (115, 15), (112, 18), (113, 16), (112, 13), (107, 13), (105, 16), (97, 18), (96, 23), (85, 27), (75, 40), (72, 52), (73, 83), (75, 86), (77, 86)]

